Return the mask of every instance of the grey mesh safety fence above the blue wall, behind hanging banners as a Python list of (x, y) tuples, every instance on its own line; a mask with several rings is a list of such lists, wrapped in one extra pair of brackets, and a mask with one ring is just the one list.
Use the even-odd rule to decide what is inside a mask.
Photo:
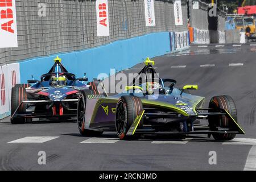
[[(102, 46), (151, 32), (187, 30), (186, 1), (181, 1), (179, 26), (172, 1), (154, 1), (155, 26), (146, 26), (143, 0), (106, 2), (109, 36), (97, 36), (96, 1), (16, 0), (19, 47), (0, 48), (0, 63)], [(46, 5), (46, 16), (39, 16), (40, 5)]]

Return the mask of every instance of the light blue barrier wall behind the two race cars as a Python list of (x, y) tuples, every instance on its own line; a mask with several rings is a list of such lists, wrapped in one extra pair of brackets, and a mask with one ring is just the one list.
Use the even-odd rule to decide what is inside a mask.
[[(118, 71), (141, 63), (146, 57), (164, 55), (171, 51), (169, 32), (156, 32), (83, 51), (59, 53), (62, 64), (77, 77), (84, 76), (89, 80), (97, 78), (99, 73), (107, 73), (115, 68)], [(20, 62), (20, 82), (26, 83), (34, 75), (38, 79), (47, 73), (56, 55), (38, 57)]]

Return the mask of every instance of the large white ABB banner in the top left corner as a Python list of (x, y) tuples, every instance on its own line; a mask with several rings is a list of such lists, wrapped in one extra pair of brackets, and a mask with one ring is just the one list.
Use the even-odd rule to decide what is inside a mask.
[(0, 0), (0, 48), (18, 47), (15, 0)]

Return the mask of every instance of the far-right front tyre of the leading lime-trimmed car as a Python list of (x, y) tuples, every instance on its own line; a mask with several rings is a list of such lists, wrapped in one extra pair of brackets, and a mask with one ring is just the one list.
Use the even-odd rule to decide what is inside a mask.
[[(216, 96), (210, 100), (209, 108), (214, 111), (218, 111), (219, 109), (225, 109), (228, 113), (237, 121), (237, 109), (236, 104), (234, 103), (232, 97), (230, 96)], [(222, 127), (226, 129), (234, 129), (234, 122), (226, 117), (226, 115), (216, 115), (209, 117), (209, 127), (212, 131), (218, 131), (217, 127)], [(236, 134), (213, 134), (213, 138), (216, 140), (232, 140), (236, 137)]]

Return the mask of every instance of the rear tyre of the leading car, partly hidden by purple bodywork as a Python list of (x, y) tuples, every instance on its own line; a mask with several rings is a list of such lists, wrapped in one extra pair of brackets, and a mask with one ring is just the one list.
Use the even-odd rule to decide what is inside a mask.
[(96, 95), (93, 90), (82, 90), (77, 102), (77, 125), (79, 132), (83, 136), (98, 136), (101, 135), (102, 131), (87, 130), (84, 128), (85, 125), (85, 109), (86, 109), (86, 97), (88, 95)]

